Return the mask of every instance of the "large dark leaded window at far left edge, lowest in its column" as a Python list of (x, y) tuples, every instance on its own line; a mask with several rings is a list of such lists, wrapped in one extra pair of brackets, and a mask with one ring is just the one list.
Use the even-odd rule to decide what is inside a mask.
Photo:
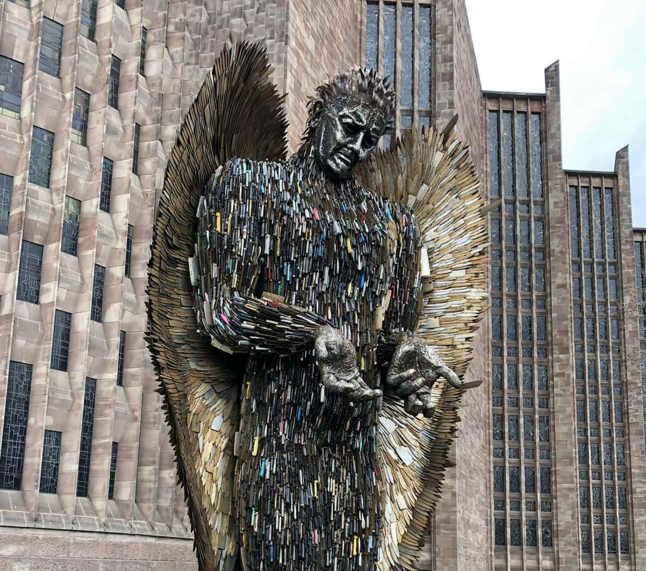
[(23, 483), (31, 385), (32, 366), (9, 361), (5, 422), (0, 450), (0, 488), (3, 490), (20, 490)]

